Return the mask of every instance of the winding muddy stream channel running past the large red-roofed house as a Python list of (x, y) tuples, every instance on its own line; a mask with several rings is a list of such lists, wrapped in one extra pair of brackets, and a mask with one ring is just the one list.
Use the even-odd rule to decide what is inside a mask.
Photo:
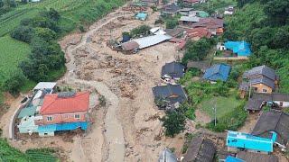
[[(126, 14), (127, 15), (127, 14)], [(117, 120), (117, 108), (118, 108), (118, 98), (117, 95), (110, 91), (110, 89), (102, 82), (97, 81), (86, 81), (86, 80), (80, 80), (77, 78), (75, 74), (75, 69), (77, 68), (74, 64), (75, 58), (73, 56), (73, 53), (76, 49), (79, 49), (82, 46), (85, 46), (87, 43), (87, 40), (93, 36), (93, 34), (101, 29), (103, 26), (107, 25), (107, 23), (110, 23), (112, 21), (117, 20), (117, 18), (122, 17), (123, 14), (118, 12), (115, 12), (113, 14), (108, 14), (106, 18), (103, 18), (98, 21), (98, 23), (93, 24), (89, 31), (86, 32), (78, 45), (73, 46), (70, 45), (67, 50), (65, 51), (66, 57), (70, 58), (69, 62), (66, 64), (67, 67), (67, 73), (62, 78), (65, 80), (68, 84), (71, 85), (89, 85), (92, 87), (95, 87), (99, 94), (102, 94), (107, 99), (107, 104), (109, 105), (107, 108), (107, 115), (105, 117), (105, 136), (106, 136), (106, 142), (107, 142), (107, 148), (108, 148), (108, 157), (107, 159), (102, 159), (102, 161), (107, 162), (123, 162), (125, 159), (125, 139), (124, 139), (124, 132), (122, 125), (120, 121)], [(81, 142), (79, 142), (81, 143)], [(94, 143), (91, 143), (91, 147)], [(101, 146), (97, 146), (101, 147)], [(79, 152), (79, 158), (83, 159), (82, 157), (91, 156), (91, 155), (82, 155), (82, 154), (88, 154), (86, 152)]]

